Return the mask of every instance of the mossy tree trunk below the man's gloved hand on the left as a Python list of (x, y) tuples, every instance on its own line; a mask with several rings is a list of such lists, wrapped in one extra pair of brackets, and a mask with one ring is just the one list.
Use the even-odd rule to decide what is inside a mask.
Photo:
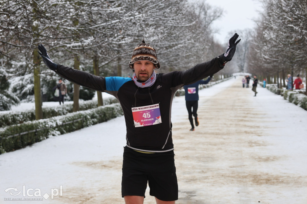
[(41, 69), (40, 56), (35, 48), (33, 50), (33, 64), (34, 64), (34, 99), (35, 99), (35, 119), (43, 118), (43, 111), (41, 108)]

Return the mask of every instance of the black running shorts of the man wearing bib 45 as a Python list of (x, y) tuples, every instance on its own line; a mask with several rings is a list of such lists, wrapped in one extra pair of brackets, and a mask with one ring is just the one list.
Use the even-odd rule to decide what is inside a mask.
[(124, 147), (122, 164), (122, 197), (144, 196), (147, 181), (149, 195), (162, 201), (178, 200), (178, 183), (174, 151), (141, 153)]

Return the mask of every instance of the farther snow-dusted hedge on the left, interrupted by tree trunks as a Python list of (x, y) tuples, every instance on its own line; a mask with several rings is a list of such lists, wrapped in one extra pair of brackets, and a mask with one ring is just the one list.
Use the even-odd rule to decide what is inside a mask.
[[(114, 97), (103, 100), (104, 105), (118, 103)], [(79, 110), (84, 111), (92, 108), (97, 108), (97, 100), (87, 100), (79, 104)], [(43, 119), (51, 118), (59, 115), (66, 115), (73, 110), (73, 104), (64, 104), (54, 107), (42, 108)], [(35, 110), (14, 111), (11, 113), (0, 114), (0, 127), (10, 126), (25, 123), (27, 121), (35, 120)]]

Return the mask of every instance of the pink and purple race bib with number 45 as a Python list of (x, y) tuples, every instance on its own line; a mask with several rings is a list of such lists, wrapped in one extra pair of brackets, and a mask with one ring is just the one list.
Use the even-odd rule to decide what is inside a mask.
[(159, 104), (131, 109), (135, 127), (144, 127), (162, 123)]

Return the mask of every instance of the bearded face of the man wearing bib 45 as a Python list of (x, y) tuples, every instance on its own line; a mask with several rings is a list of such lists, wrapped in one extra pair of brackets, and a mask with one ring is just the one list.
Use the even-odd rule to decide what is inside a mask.
[(136, 61), (133, 67), (136, 77), (142, 82), (147, 81), (156, 68), (154, 64), (148, 60)]

